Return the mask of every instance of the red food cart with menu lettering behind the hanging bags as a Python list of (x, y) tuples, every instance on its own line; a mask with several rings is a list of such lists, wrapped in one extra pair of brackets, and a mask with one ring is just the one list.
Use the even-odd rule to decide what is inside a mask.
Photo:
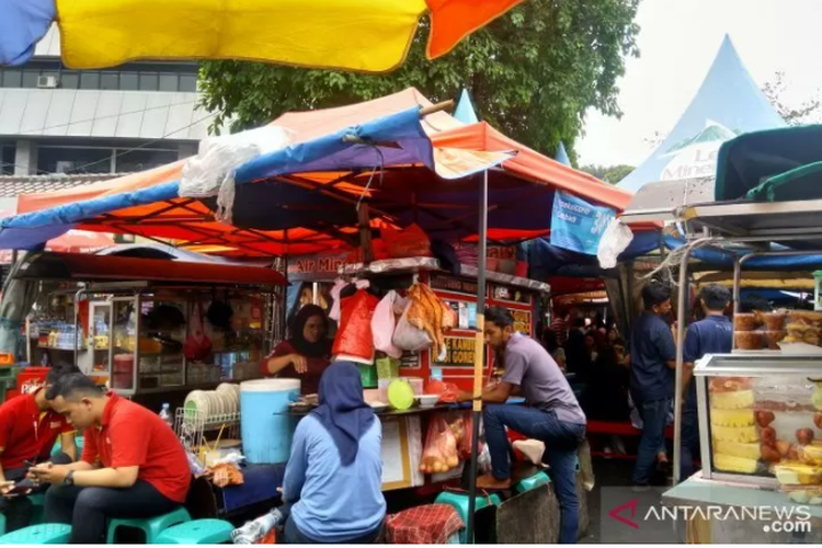
[[(455, 313), (457, 324), (445, 335), (444, 357), (433, 349), (421, 352), (403, 352), (398, 368), (399, 377), (412, 379), (418, 390), (423, 390), (429, 379), (454, 384), (463, 390), (470, 390), (473, 384), (473, 359), (477, 318), (477, 267), (460, 264), (445, 271), (439, 261), (431, 256), (386, 259), (366, 264), (347, 264), (344, 255), (310, 255), (292, 258), (289, 279), (302, 282), (316, 298), (323, 302), (323, 294), (334, 279), (365, 278), (373, 287), (406, 290), (414, 283), (425, 284), (434, 295)], [(456, 273), (454, 272), (456, 271)], [(534, 335), (538, 316), (538, 302), (549, 294), (548, 284), (502, 272), (487, 272), (487, 305), (509, 308), (516, 321), (515, 329)], [(493, 373), (493, 355), (484, 353), (486, 375)], [(373, 367), (372, 367), (373, 369)], [(383, 381), (369, 384), (364, 379), (369, 392), (376, 392)], [(375, 396), (379, 398), (379, 396)], [(447, 411), (448, 406), (429, 409), (413, 408), (408, 411), (385, 411), (383, 421), (384, 489), (396, 490), (426, 484), (420, 471), (420, 459), (427, 426), (427, 415), (436, 411)], [(433, 475), (427, 484), (459, 478), (463, 465), (448, 473)]]

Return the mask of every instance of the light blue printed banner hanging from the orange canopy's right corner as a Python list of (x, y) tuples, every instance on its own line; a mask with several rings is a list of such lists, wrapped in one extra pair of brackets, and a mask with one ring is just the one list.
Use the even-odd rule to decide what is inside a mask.
[(596, 255), (600, 238), (615, 217), (610, 207), (594, 206), (557, 191), (551, 210), (551, 246)]

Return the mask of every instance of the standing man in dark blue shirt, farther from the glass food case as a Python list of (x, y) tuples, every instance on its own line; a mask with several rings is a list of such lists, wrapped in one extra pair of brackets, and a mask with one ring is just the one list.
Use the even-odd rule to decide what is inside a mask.
[(642, 437), (633, 468), (633, 484), (651, 483), (657, 455), (664, 454), (665, 423), (674, 396), (673, 369), (676, 344), (671, 328), (662, 319), (671, 312), (671, 289), (652, 281), (642, 288), (646, 311), (631, 330), (631, 379), (633, 402), (642, 418)]

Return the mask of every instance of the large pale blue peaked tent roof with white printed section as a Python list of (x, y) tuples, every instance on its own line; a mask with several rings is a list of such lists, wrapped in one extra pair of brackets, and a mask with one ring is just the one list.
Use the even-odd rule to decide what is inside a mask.
[(743, 133), (785, 125), (726, 36), (699, 91), (673, 130), (619, 186), (637, 192), (657, 181), (713, 176), (722, 142)]

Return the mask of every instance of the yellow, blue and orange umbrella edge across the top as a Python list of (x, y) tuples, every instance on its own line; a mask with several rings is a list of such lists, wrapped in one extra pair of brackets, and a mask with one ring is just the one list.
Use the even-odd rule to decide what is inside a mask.
[(427, 56), (523, 0), (0, 0), (0, 65), (33, 54), (53, 21), (62, 60), (91, 69), (139, 59), (247, 59), (386, 72), (430, 13)]

